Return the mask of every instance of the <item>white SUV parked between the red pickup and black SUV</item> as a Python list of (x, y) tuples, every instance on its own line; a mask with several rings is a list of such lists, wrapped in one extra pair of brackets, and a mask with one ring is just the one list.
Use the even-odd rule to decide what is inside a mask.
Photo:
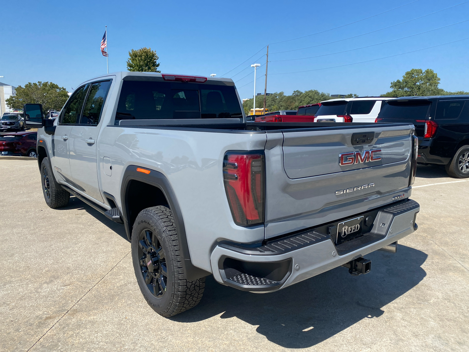
[(314, 122), (375, 122), (389, 97), (359, 97), (321, 101)]

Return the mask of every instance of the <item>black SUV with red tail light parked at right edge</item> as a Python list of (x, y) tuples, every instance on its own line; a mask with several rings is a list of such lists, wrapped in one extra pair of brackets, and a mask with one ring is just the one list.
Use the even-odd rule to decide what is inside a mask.
[(445, 165), (449, 176), (469, 177), (469, 95), (387, 100), (376, 122), (411, 122), (420, 164)]

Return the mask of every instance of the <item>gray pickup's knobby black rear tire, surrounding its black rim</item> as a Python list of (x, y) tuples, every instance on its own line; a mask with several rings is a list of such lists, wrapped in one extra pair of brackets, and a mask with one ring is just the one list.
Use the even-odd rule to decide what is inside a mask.
[[(139, 256), (139, 238), (143, 231), (150, 230), (156, 235), (165, 254), (167, 281), (166, 291), (158, 298), (144, 281)], [(174, 225), (171, 209), (165, 206), (150, 207), (142, 210), (136, 217), (131, 238), (132, 262), (140, 291), (151, 308), (164, 317), (182, 313), (197, 306), (204, 293), (205, 278), (186, 280), (182, 268), (179, 239)]]

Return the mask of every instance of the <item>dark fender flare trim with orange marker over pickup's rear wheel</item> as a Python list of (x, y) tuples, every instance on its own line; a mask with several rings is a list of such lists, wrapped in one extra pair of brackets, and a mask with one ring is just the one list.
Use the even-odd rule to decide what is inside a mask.
[(159, 190), (161, 190), (166, 197), (168, 205), (173, 212), (174, 223), (176, 225), (176, 231), (179, 237), (178, 239), (182, 257), (182, 268), (184, 269), (186, 279), (192, 281), (207, 275), (211, 275), (211, 273), (208, 271), (195, 267), (190, 260), (189, 245), (187, 244), (186, 230), (184, 221), (182, 219), (181, 208), (179, 207), (179, 203), (176, 199), (173, 188), (171, 187), (171, 184), (169, 184), (166, 176), (164, 176), (159, 171), (155, 171), (147, 167), (142, 167), (146, 170), (150, 170), (149, 174), (145, 174), (143, 172), (138, 172), (137, 168), (138, 166), (136, 165), (129, 165), (124, 171), (121, 184), (122, 217), (124, 220), (125, 231), (129, 240), (133, 227), (133, 224), (129, 223), (129, 184), (130, 181), (136, 180), (159, 188)]

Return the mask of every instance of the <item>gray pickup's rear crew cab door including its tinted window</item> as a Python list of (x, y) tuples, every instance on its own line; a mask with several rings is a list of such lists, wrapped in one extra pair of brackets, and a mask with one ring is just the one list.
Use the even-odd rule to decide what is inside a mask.
[(111, 80), (90, 85), (78, 122), (70, 132), (70, 171), (80, 191), (104, 202), (98, 185), (97, 144), (100, 119)]

